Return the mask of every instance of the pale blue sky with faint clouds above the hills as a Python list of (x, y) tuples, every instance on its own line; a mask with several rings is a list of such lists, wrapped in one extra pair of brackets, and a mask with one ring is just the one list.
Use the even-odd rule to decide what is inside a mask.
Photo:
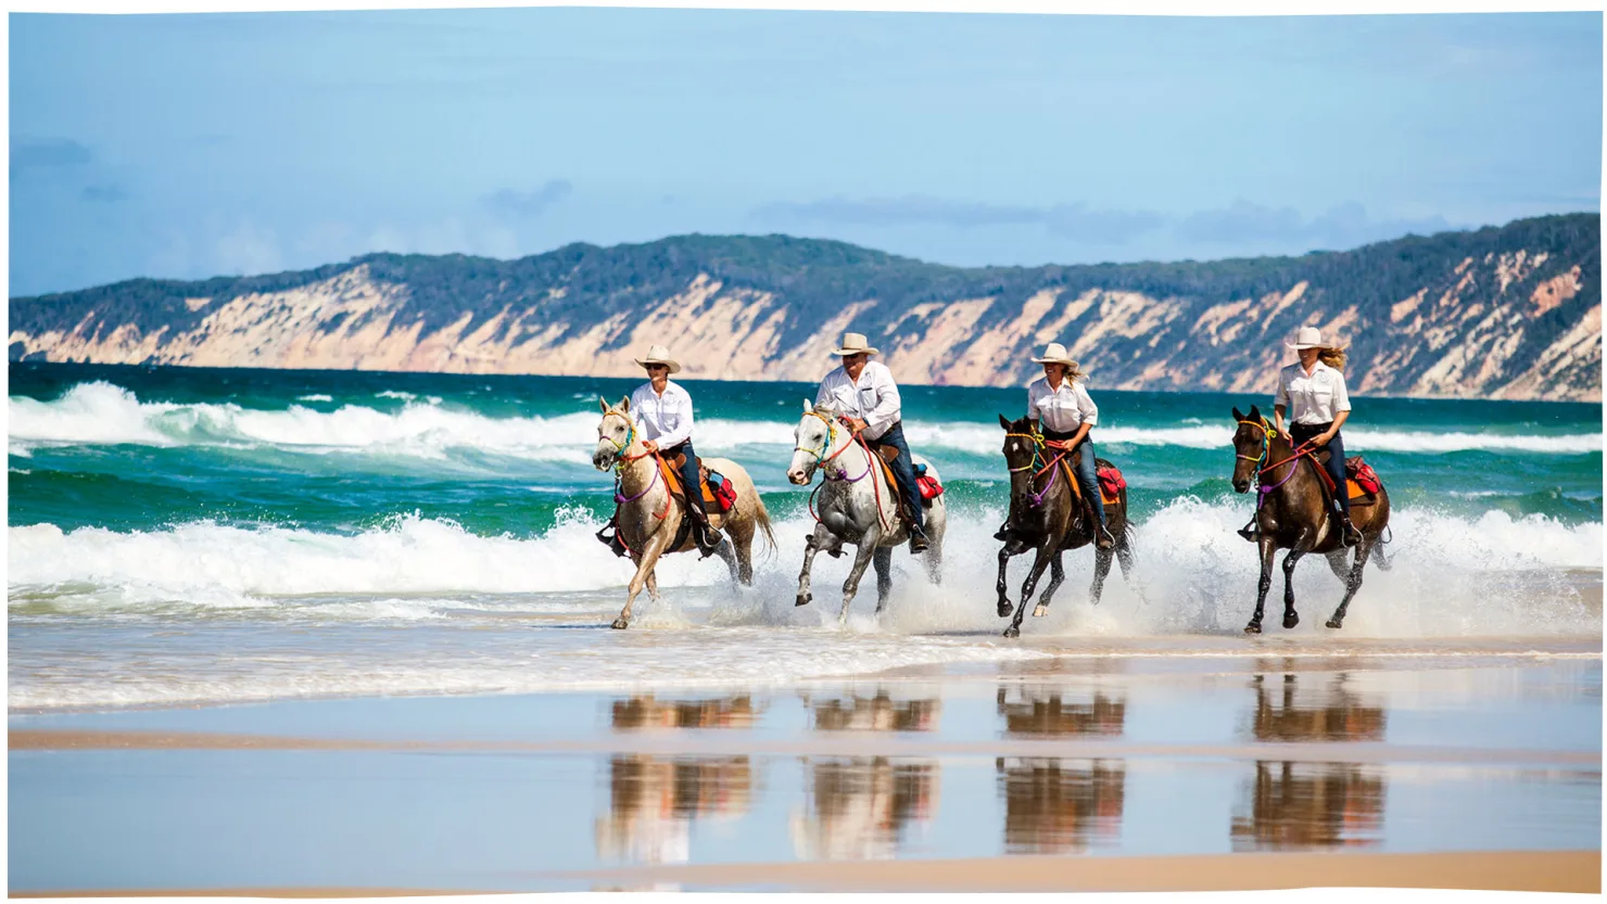
[(11, 295), (789, 233), (1208, 260), (1599, 210), (1602, 18), (10, 16)]

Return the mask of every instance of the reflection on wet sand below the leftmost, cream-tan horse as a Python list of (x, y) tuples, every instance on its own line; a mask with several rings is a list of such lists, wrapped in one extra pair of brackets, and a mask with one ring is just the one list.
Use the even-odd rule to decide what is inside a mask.
[[(744, 729), (759, 713), (752, 698), (657, 700), (651, 694), (615, 700), (615, 731)], [(632, 864), (691, 859), (696, 819), (734, 821), (747, 814), (755, 788), (749, 756), (654, 756), (609, 759), (609, 811), (596, 821), (598, 856)]]

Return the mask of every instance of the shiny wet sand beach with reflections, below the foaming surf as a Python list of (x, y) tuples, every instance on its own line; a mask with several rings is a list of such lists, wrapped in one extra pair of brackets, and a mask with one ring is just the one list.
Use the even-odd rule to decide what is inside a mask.
[(1599, 891), (1601, 644), (1422, 647), (13, 711), (10, 893)]

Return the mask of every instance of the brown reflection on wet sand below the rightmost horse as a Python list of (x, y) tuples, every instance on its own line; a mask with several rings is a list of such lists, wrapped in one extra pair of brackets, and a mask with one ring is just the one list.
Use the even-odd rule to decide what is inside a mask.
[[(1385, 711), (1347, 687), (1343, 673), (1255, 676), (1253, 740), (1379, 742)], [(1384, 827), (1384, 774), (1356, 763), (1258, 761), (1249, 800), (1234, 809), (1236, 851), (1376, 845)]]

